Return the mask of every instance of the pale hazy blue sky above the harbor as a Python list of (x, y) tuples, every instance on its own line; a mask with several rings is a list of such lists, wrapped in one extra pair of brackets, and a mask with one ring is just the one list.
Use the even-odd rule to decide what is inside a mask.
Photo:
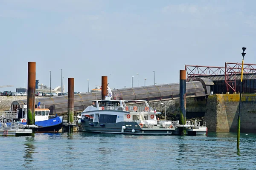
[[(256, 63), (254, 0), (0, 0), (0, 91), (36, 79), (88, 91), (179, 82), (184, 65)], [(153, 72), (154, 71), (154, 72)], [(155, 76), (154, 76), (155, 73)], [(137, 75), (138, 74), (138, 75)], [(134, 78), (132, 78), (134, 76)], [(146, 80), (145, 80), (146, 79)]]

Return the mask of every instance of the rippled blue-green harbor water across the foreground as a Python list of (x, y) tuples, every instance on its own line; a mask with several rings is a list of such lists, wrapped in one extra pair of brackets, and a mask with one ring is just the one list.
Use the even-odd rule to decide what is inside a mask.
[(3, 170), (256, 169), (256, 134), (137, 136), (44, 133), (0, 136)]

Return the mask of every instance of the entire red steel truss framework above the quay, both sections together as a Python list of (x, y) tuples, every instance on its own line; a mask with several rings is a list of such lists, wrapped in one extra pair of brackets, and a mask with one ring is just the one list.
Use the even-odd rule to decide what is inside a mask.
[[(192, 81), (198, 76), (223, 75), (227, 91), (236, 91), (236, 78), (241, 77), (242, 64), (225, 62), (225, 67), (185, 65), (186, 81)], [(256, 74), (256, 64), (244, 64), (243, 74)]]

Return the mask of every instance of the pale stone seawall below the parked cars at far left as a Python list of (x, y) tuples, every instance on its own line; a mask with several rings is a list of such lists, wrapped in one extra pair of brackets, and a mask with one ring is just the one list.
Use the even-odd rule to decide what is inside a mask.
[[(40, 96), (41, 97), (41, 96)], [(35, 96), (35, 98), (40, 98)], [(12, 102), (15, 100), (26, 100), (27, 96), (0, 96), (0, 111), (10, 110)]]

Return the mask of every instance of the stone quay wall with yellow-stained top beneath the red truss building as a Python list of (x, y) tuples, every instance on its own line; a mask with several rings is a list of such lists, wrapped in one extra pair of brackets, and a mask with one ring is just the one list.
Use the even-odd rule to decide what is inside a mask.
[[(240, 94), (208, 96), (204, 121), (210, 132), (237, 132)], [(242, 94), (240, 132), (256, 133), (256, 94)]]

